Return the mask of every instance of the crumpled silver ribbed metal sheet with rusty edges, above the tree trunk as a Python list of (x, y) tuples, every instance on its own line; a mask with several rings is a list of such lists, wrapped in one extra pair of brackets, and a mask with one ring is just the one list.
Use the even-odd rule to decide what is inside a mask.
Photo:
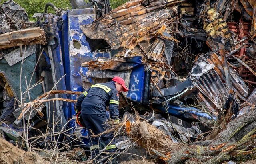
[[(232, 87), (236, 97), (236, 100), (246, 100), (248, 96), (249, 88), (246, 86), (242, 78), (230, 67), (230, 77), (232, 81)], [(192, 71), (190, 72), (192, 83), (200, 91), (198, 94), (199, 99), (215, 115), (218, 111), (221, 111), (224, 103), (228, 100), (229, 92), (224, 84), (226, 82), (223, 63), (220, 60), (220, 56), (216, 53), (211, 53), (209, 58), (198, 58)]]

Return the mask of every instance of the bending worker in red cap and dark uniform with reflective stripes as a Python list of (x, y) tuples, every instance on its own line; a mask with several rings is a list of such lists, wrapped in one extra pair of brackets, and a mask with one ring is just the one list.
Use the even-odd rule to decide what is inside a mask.
[[(107, 129), (105, 122), (106, 107), (110, 113), (110, 119), (118, 121), (119, 93), (127, 92), (124, 80), (120, 77), (114, 77), (112, 81), (106, 83), (93, 84), (88, 91), (85, 91), (78, 97), (75, 104), (76, 112), (81, 110), (82, 119), (88, 129), (88, 136), (92, 135), (91, 131), (97, 135)], [(91, 130), (91, 131), (90, 131)], [(99, 137), (90, 137), (90, 151), (94, 163), (98, 163), (100, 157), (100, 139), (106, 145), (105, 152), (115, 152), (116, 145), (113, 139), (114, 134), (103, 134)]]

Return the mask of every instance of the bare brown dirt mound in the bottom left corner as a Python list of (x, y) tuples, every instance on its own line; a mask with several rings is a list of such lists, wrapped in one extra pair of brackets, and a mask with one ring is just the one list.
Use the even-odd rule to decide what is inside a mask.
[(48, 164), (33, 152), (25, 152), (0, 138), (0, 164)]

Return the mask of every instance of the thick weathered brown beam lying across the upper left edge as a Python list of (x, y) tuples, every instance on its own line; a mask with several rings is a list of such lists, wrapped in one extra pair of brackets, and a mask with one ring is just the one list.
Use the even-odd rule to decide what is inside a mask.
[(20, 45), (45, 44), (44, 30), (30, 28), (0, 35), (0, 50)]

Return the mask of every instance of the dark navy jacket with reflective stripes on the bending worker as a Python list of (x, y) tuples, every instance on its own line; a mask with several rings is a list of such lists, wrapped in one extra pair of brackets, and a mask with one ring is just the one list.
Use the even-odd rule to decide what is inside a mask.
[(93, 84), (90, 89), (78, 97), (76, 109), (82, 114), (105, 115), (106, 107), (109, 109), (110, 118), (118, 117), (119, 96), (115, 82)]

